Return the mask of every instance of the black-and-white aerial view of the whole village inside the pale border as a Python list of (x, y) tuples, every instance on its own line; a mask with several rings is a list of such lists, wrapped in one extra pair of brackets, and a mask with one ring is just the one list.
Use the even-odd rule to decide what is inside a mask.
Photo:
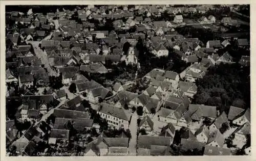
[(6, 6), (6, 156), (251, 155), (250, 5)]

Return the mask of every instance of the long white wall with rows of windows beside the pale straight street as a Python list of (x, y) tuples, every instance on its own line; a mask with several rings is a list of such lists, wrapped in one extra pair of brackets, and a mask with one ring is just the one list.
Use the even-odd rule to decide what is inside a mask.
[(101, 118), (106, 119), (109, 123), (109, 125), (114, 126), (116, 128), (119, 128), (121, 125), (123, 125), (124, 129), (127, 129), (129, 127), (129, 122), (108, 114), (104, 114), (101, 112), (97, 112)]

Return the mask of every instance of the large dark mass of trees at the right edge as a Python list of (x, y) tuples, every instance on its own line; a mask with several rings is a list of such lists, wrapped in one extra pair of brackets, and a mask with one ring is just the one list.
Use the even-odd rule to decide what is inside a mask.
[(217, 106), (217, 110), (228, 113), (230, 105), (250, 107), (250, 69), (239, 64), (220, 64), (210, 67), (199, 79), (195, 104)]

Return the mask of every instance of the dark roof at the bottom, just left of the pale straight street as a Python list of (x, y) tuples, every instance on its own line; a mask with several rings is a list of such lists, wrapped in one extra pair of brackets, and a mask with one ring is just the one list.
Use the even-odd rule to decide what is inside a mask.
[(103, 138), (108, 147), (128, 147), (129, 138)]

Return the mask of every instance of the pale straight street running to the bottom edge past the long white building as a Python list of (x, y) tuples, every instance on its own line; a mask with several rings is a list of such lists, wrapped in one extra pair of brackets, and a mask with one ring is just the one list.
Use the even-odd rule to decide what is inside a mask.
[(129, 129), (131, 131), (132, 138), (129, 143), (129, 155), (136, 155), (136, 149), (137, 149), (137, 119), (138, 115), (137, 113), (132, 114), (131, 123), (129, 126)]

